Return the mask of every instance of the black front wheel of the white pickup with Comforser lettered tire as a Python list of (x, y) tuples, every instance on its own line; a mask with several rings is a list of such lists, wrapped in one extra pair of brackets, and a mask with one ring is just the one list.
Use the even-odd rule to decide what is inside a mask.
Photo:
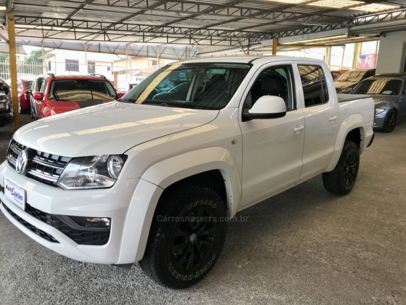
[(186, 288), (204, 278), (223, 248), (227, 223), (212, 189), (184, 185), (158, 203), (141, 268), (158, 284)]

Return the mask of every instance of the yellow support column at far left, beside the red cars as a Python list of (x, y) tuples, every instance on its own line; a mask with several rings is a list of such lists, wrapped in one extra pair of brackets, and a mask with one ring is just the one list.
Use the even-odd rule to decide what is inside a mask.
[(16, 58), (16, 36), (14, 29), (14, 13), (8, 13), (9, 23), (9, 52), (10, 52), (10, 73), (11, 73), (11, 98), (13, 100), (14, 121), (13, 128), (20, 127), (18, 113), (18, 89), (17, 89), (17, 58)]

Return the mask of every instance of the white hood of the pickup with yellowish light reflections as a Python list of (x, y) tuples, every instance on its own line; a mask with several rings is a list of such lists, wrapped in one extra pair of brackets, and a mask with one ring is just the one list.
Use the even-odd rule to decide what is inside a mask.
[(138, 144), (208, 124), (218, 113), (114, 101), (32, 122), (14, 139), (65, 157), (123, 154)]

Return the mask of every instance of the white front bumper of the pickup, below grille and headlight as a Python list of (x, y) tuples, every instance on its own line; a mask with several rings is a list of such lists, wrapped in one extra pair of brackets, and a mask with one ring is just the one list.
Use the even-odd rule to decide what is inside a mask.
[[(0, 192), (0, 209), (21, 231), (41, 245), (75, 260), (83, 262), (117, 264), (122, 251), (122, 236), (125, 229), (128, 206), (139, 179), (117, 180), (109, 189), (66, 191), (41, 184), (19, 175), (7, 161), (0, 165), (0, 185), (4, 179), (12, 181), (25, 190), (26, 209), (22, 210)], [(77, 234), (66, 234), (58, 224), (50, 223), (52, 216), (82, 216), (111, 218), (107, 242), (93, 245), (80, 244)], [(44, 219), (45, 218), (45, 219)], [(47, 222), (48, 220), (48, 222)], [(137, 232), (132, 232), (137, 235)], [(76, 238), (75, 238), (76, 236)], [(83, 238), (94, 238), (83, 235)], [(106, 236), (104, 236), (106, 238)], [(89, 240), (89, 239), (86, 239)], [(105, 240), (106, 241), (106, 240)], [(100, 243), (105, 243), (100, 245)], [(133, 257), (135, 257), (133, 253)], [(124, 262), (128, 263), (128, 262)]]

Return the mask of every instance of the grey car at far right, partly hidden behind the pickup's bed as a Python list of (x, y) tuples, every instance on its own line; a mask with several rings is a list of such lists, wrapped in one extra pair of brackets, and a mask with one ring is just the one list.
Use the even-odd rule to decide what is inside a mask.
[(392, 132), (406, 120), (406, 73), (378, 74), (361, 81), (351, 94), (369, 94), (375, 102), (375, 129)]

